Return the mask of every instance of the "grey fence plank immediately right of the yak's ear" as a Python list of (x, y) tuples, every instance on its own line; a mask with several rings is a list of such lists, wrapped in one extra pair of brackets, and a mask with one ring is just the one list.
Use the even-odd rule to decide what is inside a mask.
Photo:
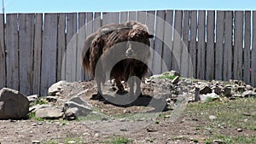
[[(163, 39), (164, 39), (164, 27), (165, 27), (165, 10), (156, 11), (155, 22), (155, 42), (154, 42), (154, 62), (153, 72), (154, 74), (160, 74), (162, 72), (162, 52), (163, 52)], [(157, 55), (158, 54), (158, 55)]]

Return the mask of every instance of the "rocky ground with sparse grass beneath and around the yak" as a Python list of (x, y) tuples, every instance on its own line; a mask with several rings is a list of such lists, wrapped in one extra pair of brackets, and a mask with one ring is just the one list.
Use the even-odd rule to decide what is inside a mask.
[[(250, 85), (237, 80), (181, 78), (177, 72), (166, 72), (146, 78), (141, 87), (143, 95), (130, 97), (118, 95), (108, 82), (103, 87), (106, 101), (96, 95), (95, 81), (61, 81), (49, 88), (48, 96), (28, 96), (30, 118), (0, 120), (0, 142), (256, 141), (256, 89)], [(237, 112), (237, 118), (232, 112)]]

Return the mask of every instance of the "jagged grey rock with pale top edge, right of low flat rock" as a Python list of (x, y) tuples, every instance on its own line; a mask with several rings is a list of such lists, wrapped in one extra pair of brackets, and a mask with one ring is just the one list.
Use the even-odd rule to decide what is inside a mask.
[(90, 109), (90, 107), (86, 107), (84, 105), (79, 105), (76, 102), (73, 101), (67, 101), (64, 105), (64, 112), (67, 112), (67, 110), (69, 108), (73, 108), (73, 107), (77, 107), (79, 109), (79, 111), (77, 112), (77, 117), (79, 116), (86, 116), (88, 115), (90, 112), (92, 112), (92, 110)]

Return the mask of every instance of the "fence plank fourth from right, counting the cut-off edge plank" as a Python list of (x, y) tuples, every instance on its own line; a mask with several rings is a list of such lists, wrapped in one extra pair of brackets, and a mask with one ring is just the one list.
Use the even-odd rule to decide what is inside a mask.
[(232, 78), (232, 26), (233, 12), (225, 11), (224, 18), (224, 80)]

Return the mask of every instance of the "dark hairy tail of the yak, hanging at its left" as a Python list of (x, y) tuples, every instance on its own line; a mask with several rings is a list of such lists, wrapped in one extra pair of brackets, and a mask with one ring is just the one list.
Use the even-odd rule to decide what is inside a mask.
[(84, 47), (82, 49), (82, 66), (84, 68), (84, 72), (91, 72), (90, 70), (90, 44), (92, 40), (96, 37), (96, 33), (90, 34), (86, 37), (84, 42)]

